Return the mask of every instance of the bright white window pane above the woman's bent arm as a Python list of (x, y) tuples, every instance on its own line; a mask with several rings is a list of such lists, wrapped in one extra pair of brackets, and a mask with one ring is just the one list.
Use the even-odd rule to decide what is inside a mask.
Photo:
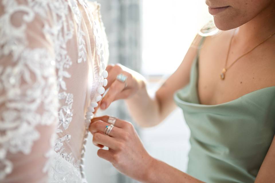
[(142, 73), (172, 74), (200, 28), (210, 19), (201, 0), (144, 0)]

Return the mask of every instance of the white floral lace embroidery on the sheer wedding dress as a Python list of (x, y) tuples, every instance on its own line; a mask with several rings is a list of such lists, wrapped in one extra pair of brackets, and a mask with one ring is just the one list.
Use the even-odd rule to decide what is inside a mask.
[[(21, 1), (20, 1), (21, 2)], [(68, 12), (73, 12), (74, 21), (77, 24), (78, 59), (77, 63), (87, 60), (85, 33), (82, 31), (82, 15), (78, 3), (84, 7), (89, 15), (89, 21), (93, 26), (96, 41), (96, 52), (99, 63), (94, 63), (95, 81), (91, 91), (91, 105), (88, 112), (94, 112), (97, 102), (105, 92), (103, 85), (107, 85), (107, 71), (104, 64), (104, 48), (101, 41), (101, 33), (86, 0), (25, 0), (19, 4), (16, 0), (0, 0), (4, 7), (4, 14), (0, 15), (0, 57), (11, 54), (15, 65), (0, 66), (0, 91), (8, 91), (4, 96), (0, 95), (0, 104), (5, 103), (6, 110), (1, 112), (0, 121), (0, 180), (5, 178), (13, 170), (12, 162), (6, 158), (6, 154), (22, 152), (30, 154), (34, 141), (41, 138), (36, 126), (51, 125), (59, 118), (56, 133), (65, 132), (73, 118), (73, 94), (66, 92), (67, 86), (64, 78), (71, 75), (66, 71), (72, 65), (72, 60), (66, 51), (66, 43), (72, 39), (74, 24), (68, 19)], [(11, 23), (11, 16), (16, 12), (23, 12), (20, 26)], [(48, 12), (54, 19), (50, 24), (46, 19)], [(55, 57), (51, 57), (46, 49), (28, 48), (26, 28), (36, 17), (45, 19), (43, 33), (45, 37), (53, 41)], [(91, 17), (91, 19), (90, 19)], [(101, 21), (101, 19), (100, 19)], [(102, 21), (101, 21), (101, 25)], [(104, 35), (105, 36), (105, 35)], [(54, 74), (56, 72), (56, 75)], [(36, 83), (30, 79), (30, 74), (35, 75)], [(18, 82), (19, 81), (19, 82)], [(21, 91), (22, 83), (26, 90)], [(38, 97), (39, 96), (39, 97)], [(59, 103), (58, 103), (59, 100)], [(62, 104), (60, 106), (60, 104)], [(43, 106), (43, 113), (37, 112), (38, 106)], [(59, 110), (58, 110), (59, 108)], [(20, 112), (18, 112), (20, 111)], [(90, 113), (89, 113), (90, 114)], [(84, 135), (81, 160), (75, 162), (72, 152), (64, 151), (64, 143), (69, 143), (70, 134), (55, 140), (52, 134), (51, 143), (54, 148), (45, 152), (45, 157), (54, 157), (50, 171), (50, 182), (85, 182), (84, 153), (87, 142), (88, 126), (93, 115), (86, 115), (86, 134)], [(20, 121), (17, 119), (21, 119)], [(24, 119), (22, 121), (22, 119)], [(54, 151), (53, 151), (54, 150)], [(65, 161), (64, 161), (65, 160)], [(50, 162), (45, 164), (43, 172), (49, 170)]]

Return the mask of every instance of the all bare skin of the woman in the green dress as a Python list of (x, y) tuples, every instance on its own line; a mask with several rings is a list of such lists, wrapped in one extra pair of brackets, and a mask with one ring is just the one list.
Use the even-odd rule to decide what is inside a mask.
[[(274, 0), (206, 0), (210, 7), (229, 6), (214, 16), (215, 25), (223, 30), (207, 37), (200, 50), (198, 96), (201, 104), (215, 105), (235, 100), (245, 94), (265, 87), (275, 86), (275, 36), (255, 50), (239, 59), (219, 78), (225, 67), (229, 41), (232, 45), (228, 57), (230, 65), (269, 35), (275, 32)], [(143, 127), (159, 124), (176, 107), (173, 94), (189, 83), (192, 61), (197, 54), (201, 37), (197, 36), (185, 55), (181, 65), (158, 89), (154, 98), (146, 90), (146, 81), (139, 73), (121, 65), (109, 65), (107, 71), (108, 93), (100, 103), (101, 109), (111, 102), (125, 99), (134, 120)], [(211, 67), (209, 67), (211, 65)], [(125, 83), (117, 81), (118, 74), (127, 75)], [(180, 78), (180, 79), (179, 79)], [(98, 156), (110, 161), (121, 173), (141, 182), (200, 182), (199, 180), (151, 157), (144, 149), (133, 126), (117, 119), (110, 136), (105, 136), (108, 116), (91, 120), (90, 131), (93, 143), (109, 150), (98, 151)], [(135, 166), (133, 166), (135, 165)], [(269, 183), (275, 180), (275, 139), (266, 154), (255, 182)]]

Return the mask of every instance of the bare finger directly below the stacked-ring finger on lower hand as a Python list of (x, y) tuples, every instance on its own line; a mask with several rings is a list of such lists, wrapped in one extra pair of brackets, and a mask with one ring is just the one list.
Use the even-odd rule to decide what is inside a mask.
[(93, 134), (93, 144), (98, 145), (101, 144), (113, 150), (117, 150), (120, 147), (120, 142), (115, 140), (110, 136), (104, 135), (102, 133), (96, 132)]

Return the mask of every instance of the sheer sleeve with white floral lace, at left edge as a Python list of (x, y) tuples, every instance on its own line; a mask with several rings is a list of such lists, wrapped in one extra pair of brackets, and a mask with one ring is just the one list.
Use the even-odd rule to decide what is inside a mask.
[(1, 183), (48, 178), (58, 96), (54, 51), (39, 17), (24, 1), (0, 0)]

